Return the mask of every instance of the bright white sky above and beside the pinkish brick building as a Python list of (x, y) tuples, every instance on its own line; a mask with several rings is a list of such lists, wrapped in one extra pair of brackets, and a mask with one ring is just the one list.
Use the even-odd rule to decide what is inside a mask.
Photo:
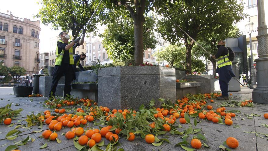
[[(38, 5), (37, 2), (39, 0), (7, 0), (5, 2), (1, 3), (0, 6), (0, 12), (7, 13), (7, 10), (9, 12), (12, 12), (13, 16), (19, 17), (19, 18), (27, 18), (32, 21), (40, 20), (40, 18), (33, 18), (34, 14), (38, 13), (38, 10), (41, 8), (41, 5)], [(49, 39), (55, 37), (60, 33), (60, 31), (55, 31), (51, 29), (51, 25), (44, 25), (40, 21), (40, 50), (39, 52), (49, 52)], [(87, 39), (85, 39), (87, 41)]]

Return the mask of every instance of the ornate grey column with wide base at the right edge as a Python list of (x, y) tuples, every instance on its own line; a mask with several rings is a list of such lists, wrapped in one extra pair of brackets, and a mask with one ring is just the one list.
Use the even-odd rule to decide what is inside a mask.
[(253, 102), (268, 104), (268, 34), (265, 24), (264, 3), (258, 0), (258, 56), (256, 59), (257, 87), (252, 92)]

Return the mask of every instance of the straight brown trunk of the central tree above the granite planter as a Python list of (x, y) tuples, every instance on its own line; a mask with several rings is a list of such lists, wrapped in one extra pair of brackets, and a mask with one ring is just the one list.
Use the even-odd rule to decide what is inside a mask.
[(134, 60), (136, 65), (143, 63), (143, 22), (144, 17), (135, 14), (134, 18), (134, 37), (135, 37), (135, 51)]

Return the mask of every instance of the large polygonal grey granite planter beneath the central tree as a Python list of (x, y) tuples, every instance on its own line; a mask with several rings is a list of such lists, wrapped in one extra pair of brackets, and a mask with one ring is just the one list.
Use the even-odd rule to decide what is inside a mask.
[[(110, 109), (137, 110), (151, 99), (176, 101), (175, 69), (160, 66), (120, 66), (98, 70), (98, 104)], [(156, 101), (155, 106), (160, 107)]]

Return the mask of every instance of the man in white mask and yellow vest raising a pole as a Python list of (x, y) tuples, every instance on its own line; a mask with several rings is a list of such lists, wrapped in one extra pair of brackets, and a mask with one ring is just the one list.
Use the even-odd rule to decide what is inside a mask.
[(56, 48), (56, 62), (53, 70), (53, 78), (51, 89), (49, 92), (49, 97), (55, 96), (55, 91), (58, 85), (59, 79), (64, 75), (65, 76), (65, 84), (64, 84), (64, 97), (68, 97), (71, 92), (71, 82), (75, 79), (75, 73), (72, 65), (74, 65), (73, 60), (73, 49), (75, 49), (75, 43), (78, 43), (76, 47), (79, 45), (83, 45), (85, 38), (85, 30), (83, 31), (83, 37), (75, 39), (74, 41), (69, 41), (70, 36), (66, 31), (62, 31), (59, 34), (61, 40), (57, 42)]

